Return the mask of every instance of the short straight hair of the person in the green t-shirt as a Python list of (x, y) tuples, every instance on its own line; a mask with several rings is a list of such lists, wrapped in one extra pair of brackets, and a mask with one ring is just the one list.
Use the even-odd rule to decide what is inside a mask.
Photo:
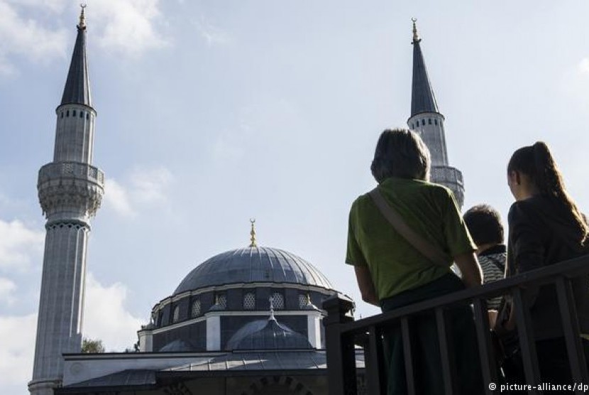
[(387, 129), (378, 138), (370, 171), (378, 183), (389, 177), (426, 181), (429, 166), (429, 149), (418, 134), (408, 129)]

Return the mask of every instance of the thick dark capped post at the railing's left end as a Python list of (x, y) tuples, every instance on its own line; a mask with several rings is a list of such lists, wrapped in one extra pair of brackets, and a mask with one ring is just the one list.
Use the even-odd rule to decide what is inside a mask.
[(327, 311), (323, 325), (329, 395), (356, 395), (358, 392), (353, 338), (341, 334), (341, 325), (353, 321), (353, 318), (347, 315), (353, 307), (353, 301), (339, 293), (323, 302), (323, 308)]

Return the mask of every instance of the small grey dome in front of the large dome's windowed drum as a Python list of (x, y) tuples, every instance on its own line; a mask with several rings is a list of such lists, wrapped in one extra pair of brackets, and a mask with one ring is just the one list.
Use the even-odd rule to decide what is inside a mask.
[(274, 316), (243, 325), (227, 342), (227, 350), (301, 350), (312, 348), (307, 337), (277, 322)]

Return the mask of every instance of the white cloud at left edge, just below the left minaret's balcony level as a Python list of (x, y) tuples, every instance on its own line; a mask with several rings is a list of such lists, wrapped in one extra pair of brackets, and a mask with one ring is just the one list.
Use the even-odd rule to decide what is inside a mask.
[(45, 232), (28, 229), (23, 222), (0, 220), (0, 269), (27, 269), (40, 258)]

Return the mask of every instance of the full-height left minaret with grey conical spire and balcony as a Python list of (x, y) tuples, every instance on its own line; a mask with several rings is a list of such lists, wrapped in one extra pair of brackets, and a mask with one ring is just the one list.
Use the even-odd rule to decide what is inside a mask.
[(47, 223), (33, 380), (28, 384), (33, 395), (53, 395), (62, 381), (62, 354), (81, 351), (90, 218), (104, 193), (104, 173), (92, 166), (96, 112), (90, 97), (84, 6), (55, 112), (53, 162), (40, 168), (37, 183)]

